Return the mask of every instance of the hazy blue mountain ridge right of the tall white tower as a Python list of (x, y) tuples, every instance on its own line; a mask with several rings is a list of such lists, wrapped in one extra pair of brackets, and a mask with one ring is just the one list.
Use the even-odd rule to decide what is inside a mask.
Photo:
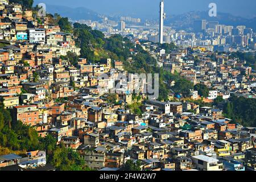
[(231, 26), (245, 25), (256, 30), (256, 18), (246, 19), (240, 16), (234, 16), (228, 13), (218, 12), (217, 17), (210, 17), (207, 11), (191, 11), (181, 15), (167, 16), (166, 23), (180, 28), (189, 28), (193, 26), (193, 21), (197, 19), (206, 19), (208, 21), (218, 21), (220, 24)]

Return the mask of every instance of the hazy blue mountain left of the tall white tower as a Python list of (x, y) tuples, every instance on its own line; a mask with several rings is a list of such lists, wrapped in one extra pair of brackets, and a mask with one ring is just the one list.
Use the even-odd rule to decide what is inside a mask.
[(90, 19), (93, 21), (100, 20), (102, 15), (86, 9), (85, 7), (77, 7), (71, 8), (67, 6), (56, 6), (56, 5), (46, 5), (47, 13), (51, 14), (60, 14), (61, 16), (71, 18), (72, 20), (80, 20), (80, 19)]

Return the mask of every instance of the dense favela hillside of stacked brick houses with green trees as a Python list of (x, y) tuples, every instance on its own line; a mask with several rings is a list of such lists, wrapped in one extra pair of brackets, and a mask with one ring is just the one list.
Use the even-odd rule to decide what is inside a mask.
[[(255, 169), (254, 55), (105, 36), (32, 4), (0, 5), (0, 170)], [(158, 73), (159, 97), (118, 73)]]

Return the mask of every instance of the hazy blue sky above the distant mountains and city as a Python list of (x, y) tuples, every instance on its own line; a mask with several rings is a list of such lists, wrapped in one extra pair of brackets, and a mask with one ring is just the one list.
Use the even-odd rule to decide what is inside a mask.
[[(160, 0), (35, 0), (49, 5), (68, 7), (86, 7), (100, 14), (132, 15), (140, 18), (155, 16), (159, 11)], [(183, 14), (188, 11), (208, 11), (211, 2), (217, 4), (217, 10), (246, 18), (256, 16), (255, 0), (165, 0), (167, 14)]]

